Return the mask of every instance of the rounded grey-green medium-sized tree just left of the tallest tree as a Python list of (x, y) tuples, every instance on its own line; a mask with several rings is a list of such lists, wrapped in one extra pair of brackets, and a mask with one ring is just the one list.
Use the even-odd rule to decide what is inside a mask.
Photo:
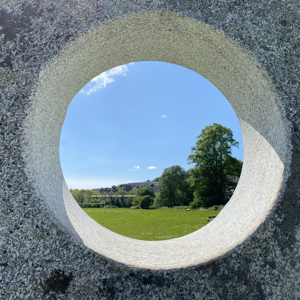
[(173, 207), (182, 205), (185, 199), (187, 180), (185, 171), (176, 165), (164, 169), (159, 179), (159, 200), (158, 206)]

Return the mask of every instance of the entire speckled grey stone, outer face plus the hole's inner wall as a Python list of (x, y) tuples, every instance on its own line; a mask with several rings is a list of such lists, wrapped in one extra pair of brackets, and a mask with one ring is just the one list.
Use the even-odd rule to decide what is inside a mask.
[[(298, 1), (1, 0), (0, 298), (300, 299), (299, 10)], [(210, 80), (244, 139), (232, 199), (168, 241), (93, 221), (59, 161), (74, 95), (145, 60)]]

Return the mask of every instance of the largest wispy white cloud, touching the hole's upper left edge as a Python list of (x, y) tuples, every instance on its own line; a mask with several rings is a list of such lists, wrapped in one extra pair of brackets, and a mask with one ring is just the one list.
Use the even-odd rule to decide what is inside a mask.
[(95, 84), (95, 85), (86, 92), (86, 95), (90, 95), (92, 92), (98, 91), (101, 88), (105, 88), (108, 83), (115, 81), (115, 79), (113, 79), (113, 76), (117, 76), (117, 75), (125, 76), (127, 71), (128, 71), (128, 67), (126, 64), (124, 64), (122, 66), (115, 67), (101, 73), (100, 75), (96, 76), (89, 82), (90, 84)]

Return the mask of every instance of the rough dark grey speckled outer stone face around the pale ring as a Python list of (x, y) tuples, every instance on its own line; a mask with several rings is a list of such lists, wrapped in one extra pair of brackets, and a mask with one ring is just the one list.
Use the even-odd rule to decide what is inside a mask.
[[(300, 299), (299, 10), (298, 1), (1, 0), (0, 298)], [(232, 40), (265, 71), (289, 129), (270, 213), (230, 251), (181, 268), (92, 250), (45, 201), (29, 163), (29, 125), (47, 70), (99, 26), (144, 13), (204, 23)]]

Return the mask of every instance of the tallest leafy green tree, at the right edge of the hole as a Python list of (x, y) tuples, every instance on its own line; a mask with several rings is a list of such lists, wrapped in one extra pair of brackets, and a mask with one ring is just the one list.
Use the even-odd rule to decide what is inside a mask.
[(234, 190), (234, 176), (241, 175), (242, 162), (231, 156), (232, 147), (238, 147), (230, 128), (217, 123), (202, 129), (192, 147), (189, 164), (191, 185), (195, 188), (192, 207), (221, 205), (228, 191)]

